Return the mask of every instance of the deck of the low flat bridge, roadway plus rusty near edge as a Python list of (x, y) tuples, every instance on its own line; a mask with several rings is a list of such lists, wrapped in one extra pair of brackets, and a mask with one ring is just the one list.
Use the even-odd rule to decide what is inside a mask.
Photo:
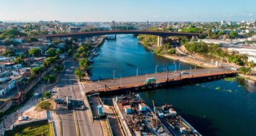
[[(190, 72), (190, 70), (182, 70), (186, 71), (187, 73)], [(195, 77), (207, 77), (211, 75), (224, 75), (224, 74), (230, 74), (230, 73), (236, 73), (234, 70), (228, 70), (224, 68), (213, 68), (210, 69), (195, 69), (192, 70), (191, 75), (190, 74), (183, 74), (181, 77), (179, 77), (181, 71), (176, 72), (169, 72), (168, 73), (168, 79), (169, 80), (181, 80), (185, 78), (195, 78)], [(109, 91), (109, 90), (118, 90), (120, 88), (130, 88), (130, 87), (139, 87), (142, 85), (145, 85), (145, 80), (147, 78), (154, 77), (156, 79), (156, 83), (163, 83), (166, 82), (167, 72), (161, 72), (157, 74), (148, 74), (148, 75), (139, 75), (138, 77), (124, 77), (119, 79), (111, 79), (111, 80), (102, 80), (99, 82), (92, 82), (90, 84), (87, 84), (85, 88), (87, 88), (88, 91)], [(108, 88), (105, 88), (105, 85), (108, 86)]]

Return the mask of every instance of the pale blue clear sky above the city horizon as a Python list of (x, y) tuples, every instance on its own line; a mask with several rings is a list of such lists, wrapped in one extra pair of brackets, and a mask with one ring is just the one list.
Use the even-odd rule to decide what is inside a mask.
[(0, 0), (0, 20), (255, 20), (256, 0)]

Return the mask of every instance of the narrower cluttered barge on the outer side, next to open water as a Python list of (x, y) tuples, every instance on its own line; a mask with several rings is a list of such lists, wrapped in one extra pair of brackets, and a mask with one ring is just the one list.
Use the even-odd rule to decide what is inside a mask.
[(172, 105), (164, 104), (154, 108), (154, 111), (161, 122), (173, 135), (201, 135), (185, 119), (173, 109)]

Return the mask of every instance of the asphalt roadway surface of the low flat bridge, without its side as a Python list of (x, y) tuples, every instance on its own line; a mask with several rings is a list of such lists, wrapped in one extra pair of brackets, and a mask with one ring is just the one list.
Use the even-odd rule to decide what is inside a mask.
[[(86, 84), (85, 88), (88, 88), (87, 91), (91, 90), (98, 90), (101, 88), (105, 88), (105, 85), (107, 85), (109, 88), (111, 87), (122, 87), (125, 85), (134, 85), (136, 83), (144, 83), (147, 78), (154, 77), (156, 79), (156, 82), (158, 80), (165, 80), (168, 76), (169, 79), (176, 79), (179, 77), (180, 73), (182, 71), (186, 71), (187, 74), (182, 74), (182, 77), (189, 77), (190, 70), (181, 70), (181, 71), (169, 71), (168, 75), (167, 72), (161, 72), (157, 74), (146, 74), (146, 75), (139, 75), (138, 77), (125, 77), (125, 78), (118, 78), (115, 80), (103, 80), (99, 82), (92, 82), (90, 84)], [(192, 69), (191, 70), (191, 76), (192, 75), (200, 75), (200, 74), (214, 74), (218, 72), (228, 72), (229, 69), (224, 68), (212, 68), (212, 69)]]

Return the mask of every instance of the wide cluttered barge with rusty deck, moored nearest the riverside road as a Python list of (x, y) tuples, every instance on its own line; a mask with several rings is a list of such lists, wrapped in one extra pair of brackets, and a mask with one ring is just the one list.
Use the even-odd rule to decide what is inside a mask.
[(126, 135), (171, 135), (139, 94), (116, 96), (113, 104)]

